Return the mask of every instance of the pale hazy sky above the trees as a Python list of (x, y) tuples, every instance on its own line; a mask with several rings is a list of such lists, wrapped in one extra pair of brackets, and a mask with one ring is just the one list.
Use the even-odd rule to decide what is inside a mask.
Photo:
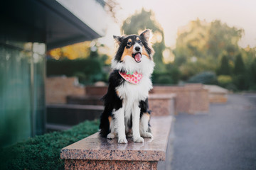
[[(111, 46), (112, 35), (120, 35), (122, 21), (142, 8), (152, 10), (156, 21), (164, 29), (166, 46), (175, 47), (177, 31), (186, 26), (189, 21), (206, 20), (207, 22), (220, 20), (228, 26), (242, 28), (245, 35), (239, 42), (240, 47), (256, 47), (256, 0), (129, 0), (118, 1), (121, 10), (117, 11), (118, 23), (108, 22), (107, 34), (100, 38), (100, 42)], [(109, 18), (110, 19), (110, 18)]]

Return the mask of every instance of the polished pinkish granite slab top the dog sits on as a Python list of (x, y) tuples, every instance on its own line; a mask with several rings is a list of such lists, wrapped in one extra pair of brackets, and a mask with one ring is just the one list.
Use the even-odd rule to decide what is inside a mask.
[(153, 139), (144, 138), (144, 143), (135, 143), (127, 137), (127, 144), (117, 143), (117, 138), (108, 140), (99, 132), (64, 147), (61, 159), (119, 160), (119, 161), (164, 161), (171, 130), (171, 116), (151, 118)]

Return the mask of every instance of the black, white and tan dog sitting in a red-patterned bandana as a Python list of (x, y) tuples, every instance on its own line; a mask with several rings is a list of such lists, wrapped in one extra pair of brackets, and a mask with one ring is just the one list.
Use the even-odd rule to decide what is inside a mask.
[(118, 137), (119, 143), (127, 143), (126, 136), (144, 142), (142, 137), (153, 137), (148, 104), (154, 70), (151, 30), (113, 37), (119, 47), (112, 60), (107, 94), (102, 98), (105, 109), (100, 118), (100, 135)]

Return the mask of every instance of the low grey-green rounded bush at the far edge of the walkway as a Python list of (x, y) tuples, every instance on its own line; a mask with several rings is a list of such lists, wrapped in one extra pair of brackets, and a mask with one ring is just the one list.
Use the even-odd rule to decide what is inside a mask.
[(213, 72), (202, 72), (188, 80), (188, 83), (216, 84), (216, 75)]

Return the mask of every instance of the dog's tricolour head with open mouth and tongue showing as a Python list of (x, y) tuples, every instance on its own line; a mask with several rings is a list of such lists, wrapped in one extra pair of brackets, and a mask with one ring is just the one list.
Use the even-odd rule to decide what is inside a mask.
[(150, 37), (151, 31), (148, 29), (140, 35), (114, 35), (114, 40), (116, 40), (119, 47), (112, 60), (113, 69), (139, 71), (137, 69), (146, 67), (146, 63), (154, 63), (154, 50), (149, 42)]

